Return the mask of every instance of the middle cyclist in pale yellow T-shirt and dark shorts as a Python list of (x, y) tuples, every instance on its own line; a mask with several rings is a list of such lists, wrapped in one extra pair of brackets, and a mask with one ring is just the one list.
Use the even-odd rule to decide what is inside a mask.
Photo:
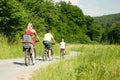
[(55, 39), (51, 33), (51, 30), (48, 30), (48, 32), (44, 35), (44, 39), (43, 39), (43, 44), (44, 46), (48, 49), (48, 56), (49, 56), (49, 60), (52, 59), (51, 56), (51, 42), (55, 43)]

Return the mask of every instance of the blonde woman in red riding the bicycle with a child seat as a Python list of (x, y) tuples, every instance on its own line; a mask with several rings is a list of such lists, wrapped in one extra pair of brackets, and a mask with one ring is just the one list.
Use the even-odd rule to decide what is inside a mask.
[(27, 26), (27, 29), (25, 31), (25, 34), (29, 34), (32, 36), (32, 43), (31, 43), (31, 53), (32, 53), (32, 59), (33, 59), (33, 64), (35, 63), (35, 53), (34, 53), (34, 45), (35, 45), (35, 41), (34, 41), (34, 37), (37, 37), (38, 41), (40, 41), (35, 29), (33, 29), (33, 24), (29, 23)]

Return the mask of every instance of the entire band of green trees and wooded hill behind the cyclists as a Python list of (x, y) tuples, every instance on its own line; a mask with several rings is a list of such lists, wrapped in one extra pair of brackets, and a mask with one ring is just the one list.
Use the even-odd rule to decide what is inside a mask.
[(120, 13), (91, 17), (70, 2), (0, 0), (0, 34), (9, 42), (20, 40), (29, 22), (41, 39), (51, 29), (57, 42), (120, 43)]

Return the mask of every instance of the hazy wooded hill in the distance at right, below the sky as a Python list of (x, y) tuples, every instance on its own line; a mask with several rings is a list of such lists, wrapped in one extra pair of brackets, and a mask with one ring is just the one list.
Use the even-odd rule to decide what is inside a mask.
[(115, 22), (120, 22), (120, 13), (93, 17), (94, 20), (101, 24), (104, 28), (109, 28)]

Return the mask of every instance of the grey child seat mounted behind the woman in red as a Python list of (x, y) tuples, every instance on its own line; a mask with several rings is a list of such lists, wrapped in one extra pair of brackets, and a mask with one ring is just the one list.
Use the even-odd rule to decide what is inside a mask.
[(32, 35), (23, 34), (22, 43), (24, 48), (30, 48), (32, 44)]

